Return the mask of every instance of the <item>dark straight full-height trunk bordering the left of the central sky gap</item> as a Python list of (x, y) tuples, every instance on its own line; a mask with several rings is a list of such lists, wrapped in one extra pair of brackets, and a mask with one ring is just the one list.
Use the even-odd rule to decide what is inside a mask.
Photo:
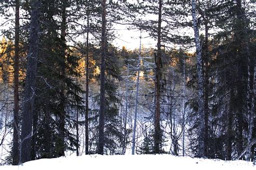
[(106, 58), (106, 0), (102, 0), (102, 56), (100, 65), (100, 104), (99, 104), (99, 137), (97, 153), (104, 153), (104, 119), (105, 119), (105, 58)]

